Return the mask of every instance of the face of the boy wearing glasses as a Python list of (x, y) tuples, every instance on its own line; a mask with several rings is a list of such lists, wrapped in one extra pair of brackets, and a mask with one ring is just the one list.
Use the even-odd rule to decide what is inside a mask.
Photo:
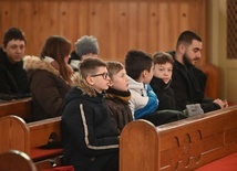
[(106, 90), (110, 85), (107, 68), (104, 66), (97, 67), (96, 73), (90, 76), (91, 86), (99, 93)]

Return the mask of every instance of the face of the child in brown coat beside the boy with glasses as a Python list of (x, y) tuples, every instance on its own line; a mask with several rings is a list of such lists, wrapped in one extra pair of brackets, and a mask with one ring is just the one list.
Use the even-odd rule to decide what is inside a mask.
[(114, 74), (111, 77), (111, 85), (112, 88), (126, 92), (128, 89), (128, 78), (126, 75), (126, 71), (122, 70), (118, 73)]

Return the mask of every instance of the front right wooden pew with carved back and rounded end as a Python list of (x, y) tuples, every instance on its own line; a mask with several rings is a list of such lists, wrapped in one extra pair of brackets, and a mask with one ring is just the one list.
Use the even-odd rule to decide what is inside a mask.
[(158, 127), (136, 120), (120, 138), (120, 171), (190, 171), (235, 152), (237, 106)]

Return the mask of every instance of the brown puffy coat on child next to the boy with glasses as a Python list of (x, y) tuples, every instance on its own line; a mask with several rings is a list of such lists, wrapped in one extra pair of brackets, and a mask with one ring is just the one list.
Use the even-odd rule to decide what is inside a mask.
[(130, 92), (121, 92), (113, 88), (106, 90), (105, 104), (109, 107), (111, 121), (114, 131), (120, 135), (123, 127), (133, 120), (132, 111), (128, 106), (131, 99)]

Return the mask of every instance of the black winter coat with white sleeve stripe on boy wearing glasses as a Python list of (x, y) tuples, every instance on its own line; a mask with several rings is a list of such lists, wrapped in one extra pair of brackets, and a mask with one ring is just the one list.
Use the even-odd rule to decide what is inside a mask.
[[(85, 81), (75, 81), (64, 99), (62, 115), (63, 156), (75, 170), (90, 168), (100, 171), (105, 156), (118, 151), (118, 137), (113, 135), (104, 95), (96, 93)], [(92, 170), (92, 169), (91, 169)]]

